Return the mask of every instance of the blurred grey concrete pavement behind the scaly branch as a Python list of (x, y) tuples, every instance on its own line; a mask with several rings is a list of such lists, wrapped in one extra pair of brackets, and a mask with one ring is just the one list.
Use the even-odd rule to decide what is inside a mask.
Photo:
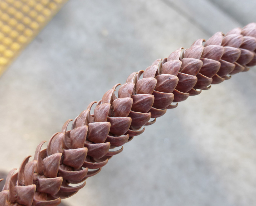
[[(249, 0), (69, 0), (0, 77), (1, 172), (130, 73), (255, 21), (255, 8)], [(179, 103), (63, 204), (255, 205), (255, 80), (252, 68)]]

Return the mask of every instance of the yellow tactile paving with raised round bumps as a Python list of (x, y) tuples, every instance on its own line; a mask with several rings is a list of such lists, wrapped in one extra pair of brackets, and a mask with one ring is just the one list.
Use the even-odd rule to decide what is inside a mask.
[(67, 0), (0, 0), (0, 75)]

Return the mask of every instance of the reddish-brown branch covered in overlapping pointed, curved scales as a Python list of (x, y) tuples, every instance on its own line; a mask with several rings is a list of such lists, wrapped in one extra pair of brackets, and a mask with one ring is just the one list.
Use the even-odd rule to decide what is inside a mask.
[(69, 131), (72, 120), (67, 120), (61, 132), (51, 137), (47, 149), (41, 150), (42, 141), (34, 159), (26, 157), (17, 173), (12, 169), (0, 192), (0, 206), (60, 204), (61, 199), (84, 187), (85, 180), (100, 172), (123, 147), (112, 149), (140, 135), (143, 126), (155, 123), (167, 109), (209, 89), (210, 84), (219, 84), (255, 65), (256, 23), (225, 35), (218, 32), (206, 42), (198, 39), (184, 51), (180, 48), (155, 60), (145, 71), (132, 73), (118, 89), (118, 97), (115, 91), (120, 84), (81, 112)]

